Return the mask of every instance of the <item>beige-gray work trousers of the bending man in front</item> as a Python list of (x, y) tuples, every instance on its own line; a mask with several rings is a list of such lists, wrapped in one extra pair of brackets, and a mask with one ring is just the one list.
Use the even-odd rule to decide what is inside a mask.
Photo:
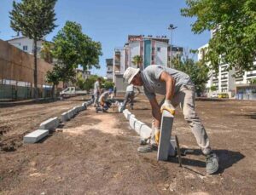
[[(160, 106), (164, 103), (161, 101)], [(195, 140), (198, 146), (201, 147), (201, 151), (207, 155), (211, 152), (210, 141), (201, 123), (201, 119), (195, 112), (195, 86), (183, 85), (172, 98), (172, 106), (180, 106), (183, 112), (184, 119), (189, 123), (189, 127), (195, 136)], [(154, 121), (152, 123), (151, 143), (154, 143)]]

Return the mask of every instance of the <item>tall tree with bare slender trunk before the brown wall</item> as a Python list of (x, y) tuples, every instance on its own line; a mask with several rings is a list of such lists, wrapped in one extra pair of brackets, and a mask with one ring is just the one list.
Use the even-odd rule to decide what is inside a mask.
[(22, 0), (13, 2), (10, 14), (10, 26), (15, 32), (33, 40), (34, 53), (34, 89), (38, 100), (38, 40), (52, 32), (55, 26), (55, 3), (57, 0)]

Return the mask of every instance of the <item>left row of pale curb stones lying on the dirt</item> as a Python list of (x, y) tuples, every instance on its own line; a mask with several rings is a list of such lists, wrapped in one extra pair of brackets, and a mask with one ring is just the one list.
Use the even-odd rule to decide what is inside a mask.
[(61, 114), (61, 118), (49, 118), (48, 120), (40, 123), (40, 126), (37, 130), (32, 131), (28, 135), (23, 137), (24, 143), (36, 143), (42, 140), (44, 137), (49, 135), (49, 131), (55, 130), (59, 124), (62, 122), (66, 122), (73, 118), (77, 113), (84, 111), (87, 109), (87, 106), (90, 106), (93, 103), (93, 100), (85, 101), (82, 106), (73, 107), (67, 112)]

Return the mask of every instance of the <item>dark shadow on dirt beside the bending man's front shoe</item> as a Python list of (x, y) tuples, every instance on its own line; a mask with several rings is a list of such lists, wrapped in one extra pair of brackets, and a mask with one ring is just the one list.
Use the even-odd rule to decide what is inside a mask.
[[(189, 152), (187, 152), (189, 151)], [(234, 152), (230, 150), (214, 150), (218, 156), (218, 163), (219, 163), (219, 169), (216, 174), (223, 173), (224, 169), (229, 169), (233, 164), (240, 161), (242, 158), (245, 158), (241, 152)], [(197, 159), (191, 159), (186, 158), (186, 155), (202, 155), (201, 150), (199, 149), (188, 149), (188, 148), (181, 148), (182, 153), (182, 164), (183, 165), (189, 165), (194, 167), (206, 167), (206, 162), (197, 160)], [(178, 163), (177, 158), (168, 158), (168, 161), (171, 163)]]

